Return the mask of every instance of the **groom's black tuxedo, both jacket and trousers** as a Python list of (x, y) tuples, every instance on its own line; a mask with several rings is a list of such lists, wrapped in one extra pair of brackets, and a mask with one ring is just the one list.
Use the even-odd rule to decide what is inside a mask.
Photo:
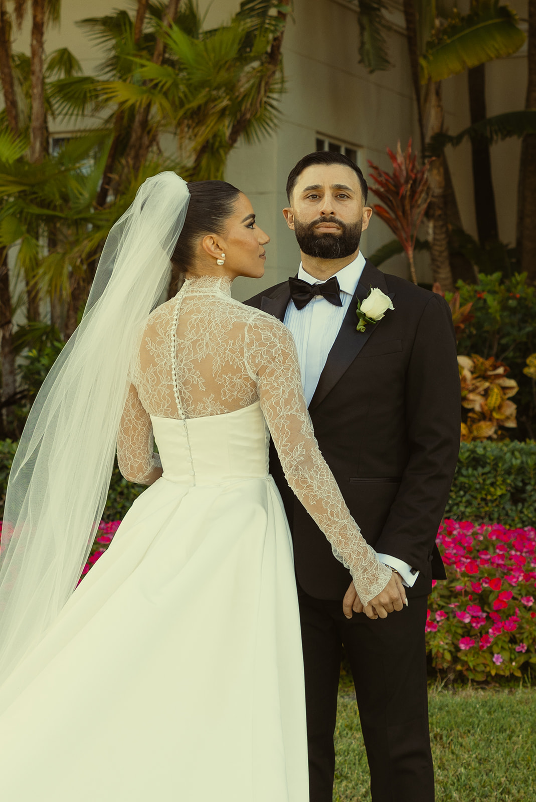
[[(392, 298), (364, 332), (357, 299), (371, 287)], [(282, 320), (288, 282), (247, 303)], [(309, 406), (319, 448), (363, 536), (420, 574), (408, 610), (370, 621), (343, 618), (350, 573), (286, 484), (270, 471), (294, 540), (303, 626), (311, 802), (331, 800), (340, 644), (351, 661), (373, 800), (433, 798), (424, 659), (426, 594), (445, 570), (435, 545), (457, 463), (460, 381), (449, 306), (441, 296), (367, 261)], [(381, 722), (381, 723), (379, 723)]]

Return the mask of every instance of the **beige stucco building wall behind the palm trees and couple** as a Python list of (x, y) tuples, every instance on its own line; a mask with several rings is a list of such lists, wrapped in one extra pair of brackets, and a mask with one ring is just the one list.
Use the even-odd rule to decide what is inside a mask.
[[(229, 19), (238, 9), (239, 0), (200, 0), (201, 10), (208, 9), (206, 25), (216, 26)], [(511, 2), (520, 16), (526, 17), (526, 0)], [(91, 38), (83, 34), (75, 22), (80, 18), (108, 14), (127, 6), (112, 0), (63, 0), (59, 27), (47, 31), (47, 51), (70, 47), (82, 63), (84, 71), (94, 73), (102, 55)], [(367, 175), (367, 159), (388, 167), (385, 148), (403, 146), (416, 136), (416, 105), (409, 75), (404, 18), (400, 0), (388, 0), (388, 18), (392, 30), (388, 47), (394, 67), (390, 71), (369, 75), (359, 64), (358, 19), (355, 8), (345, 0), (295, 0), (294, 22), (286, 29), (284, 64), (287, 92), (281, 99), (281, 122), (278, 132), (260, 144), (240, 144), (229, 158), (226, 177), (250, 196), (258, 213), (259, 225), (272, 241), (266, 264), (266, 276), (260, 282), (238, 280), (238, 298), (258, 292), (265, 286), (282, 281), (298, 265), (298, 249), (294, 235), (286, 228), (281, 210), (286, 205), (286, 176), (295, 162), (315, 149), (320, 132), (335, 140), (344, 140), (359, 148), (359, 165)], [(15, 49), (29, 50), (30, 27), (26, 24)], [(488, 114), (512, 111), (524, 106), (526, 91), (525, 49), (510, 59), (486, 65), (486, 98)], [(443, 82), (445, 124), (457, 133), (469, 125), (467, 76), (458, 75)], [(88, 121), (88, 124), (91, 124)], [(72, 125), (72, 124), (70, 124)], [(61, 121), (51, 126), (52, 132), (69, 128)], [(448, 152), (449, 165), (457, 192), (461, 219), (465, 228), (476, 235), (473, 211), (473, 178), (470, 148), (465, 143)], [(493, 180), (501, 239), (515, 241), (519, 143), (510, 140), (492, 148)], [(373, 218), (363, 234), (363, 253), (392, 239), (392, 234)], [(404, 257), (395, 257), (383, 265), (388, 272), (407, 274)], [(421, 281), (430, 281), (428, 258), (417, 264)]]

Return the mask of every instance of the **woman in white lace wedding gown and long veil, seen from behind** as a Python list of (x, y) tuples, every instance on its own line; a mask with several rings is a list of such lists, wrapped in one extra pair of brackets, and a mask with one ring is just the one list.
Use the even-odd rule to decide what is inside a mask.
[[(173, 172), (145, 181), (108, 237), (10, 476), (6, 802), (308, 800), (298, 603), (270, 435), (365, 613), (386, 614), (371, 600), (396, 585), (319, 452), (289, 331), (231, 298), (234, 277), (262, 276), (268, 241), (242, 192)], [(159, 305), (170, 261), (185, 283)], [(116, 447), (124, 476), (150, 487), (73, 593)]]

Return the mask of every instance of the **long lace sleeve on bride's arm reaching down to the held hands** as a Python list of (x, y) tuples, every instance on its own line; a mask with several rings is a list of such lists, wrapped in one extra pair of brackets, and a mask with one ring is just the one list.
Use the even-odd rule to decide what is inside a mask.
[(257, 380), (286, 480), (330, 541), (335, 557), (350, 569), (366, 605), (384, 589), (392, 571), (363, 539), (320, 453), (303, 398), (294, 339), (286, 326), (274, 318), (254, 318), (247, 331), (246, 363)]

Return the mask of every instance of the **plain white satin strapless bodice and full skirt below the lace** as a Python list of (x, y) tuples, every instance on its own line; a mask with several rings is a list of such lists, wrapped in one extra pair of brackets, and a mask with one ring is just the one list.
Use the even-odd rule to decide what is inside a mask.
[(292, 547), (266, 428), (258, 404), (217, 419), (184, 436), (153, 420), (164, 476), (0, 689), (2, 800), (309, 799)]

